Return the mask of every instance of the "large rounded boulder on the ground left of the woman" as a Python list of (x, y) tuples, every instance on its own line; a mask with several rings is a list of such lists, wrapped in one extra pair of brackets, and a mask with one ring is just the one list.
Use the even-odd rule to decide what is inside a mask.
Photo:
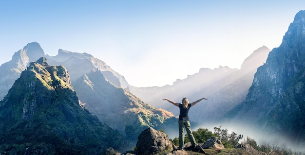
[(136, 149), (141, 155), (166, 154), (173, 151), (173, 146), (165, 133), (149, 127), (138, 136)]

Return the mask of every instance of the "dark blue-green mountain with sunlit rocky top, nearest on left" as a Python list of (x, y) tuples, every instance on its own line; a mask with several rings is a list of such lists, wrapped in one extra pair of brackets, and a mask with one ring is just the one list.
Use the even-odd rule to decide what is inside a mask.
[(0, 101), (0, 154), (101, 154), (122, 137), (79, 105), (67, 69), (45, 58)]

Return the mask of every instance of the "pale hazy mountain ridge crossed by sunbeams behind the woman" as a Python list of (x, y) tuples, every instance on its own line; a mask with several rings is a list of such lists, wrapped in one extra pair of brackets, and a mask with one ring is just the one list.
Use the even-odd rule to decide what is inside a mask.
[(266, 62), (269, 52), (266, 46), (258, 48), (245, 59), (241, 69), (222, 66), (216, 69), (202, 68), (186, 79), (177, 80), (172, 86), (131, 87), (131, 91), (146, 103), (171, 111), (174, 115), (179, 115), (179, 111), (171, 104), (163, 103), (162, 98), (180, 102), (187, 97), (192, 102), (207, 97), (209, 100), (196, 104), (196, 108), (192, 109), (189, 114), (191, 120), (223, 121), (230, 109), (245, 101), (254, 74)]

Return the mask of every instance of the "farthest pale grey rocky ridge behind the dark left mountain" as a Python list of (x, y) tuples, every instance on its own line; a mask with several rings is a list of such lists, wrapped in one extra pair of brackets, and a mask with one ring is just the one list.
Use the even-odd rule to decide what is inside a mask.
[(38, 60), (40, 57), (46, 57), (50, 65), (65, 66), (70, 73), (72, 82), (76, 81), (81, 75), (98, 69), (115, 86), (124, 88), (130, 86), (124, 76), (90, 54), (59, 49), (56, 56), (49, 56), (43, 52), (37, 42), (32, 42), (28, 43), (23, 50), (15, 52), (11, 61), (0, 66), (0, 100), (7, 94), (15, 80), (19, 78), (20, 73), (26, 69), (29, 63)]

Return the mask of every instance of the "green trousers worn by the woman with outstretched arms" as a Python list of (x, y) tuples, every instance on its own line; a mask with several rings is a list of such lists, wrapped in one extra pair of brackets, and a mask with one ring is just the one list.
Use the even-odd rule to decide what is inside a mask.
[(182, 148), (184, 145), (184, 128), (187, 130), (189, 139), (191, 141), (191, 145), (195, 146), (196, 140), (191, 132), (191, 124), (190, 121), (178, 121), (179, 123), (179, 148)]

